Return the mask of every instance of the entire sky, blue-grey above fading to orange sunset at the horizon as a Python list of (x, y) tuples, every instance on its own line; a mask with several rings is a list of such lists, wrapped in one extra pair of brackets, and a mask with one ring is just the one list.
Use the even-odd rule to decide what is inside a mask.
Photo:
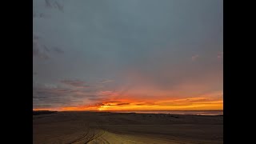
[(222, 0), (34, 0), (34, 110), (222, 110)]

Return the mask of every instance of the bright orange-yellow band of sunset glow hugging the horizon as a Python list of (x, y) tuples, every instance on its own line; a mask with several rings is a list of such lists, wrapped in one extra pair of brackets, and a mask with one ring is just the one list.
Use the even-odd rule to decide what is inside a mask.
[[(216, 96), (215, 96), (216, 97)], [(50, 109), (39, 108), (34, 110), (57, 110), (57, 111), (136, 111), (136, 110), (223, 110), (222, 98), (198, 97), (180, 98), (173, 100), (121, 100), (106, 101), (86, 106), (53, 107)]]

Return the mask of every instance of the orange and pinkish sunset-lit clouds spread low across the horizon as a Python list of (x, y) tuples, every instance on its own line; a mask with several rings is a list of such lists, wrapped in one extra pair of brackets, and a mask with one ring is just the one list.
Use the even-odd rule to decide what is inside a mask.
[[(143, 78), (141, 78), (143, 79)], [(72, 85), (83, 85), (81, 82), (68, 82)], [(139, 82), (138, 82), (139, 83)], [(150, 83), (142, 80), (128, 89), (117, 90), (50, 90), (55, 93), (69, 92), (73, 98), (78, 98), (84, 104), (70, 103), (70, 106), (54, 108), (43, 108), (34, 110), (59, 110), (59, 111), (81, 111), (81, 110), (222, 110), (222, 91), (199, 93), (204, 90), (202, 85), (184, 83), (173, 90), (161, 90)], [(191, 92), (190, 92), (191, 91)], [(91, 103), (91, 104), (85, 104)]]

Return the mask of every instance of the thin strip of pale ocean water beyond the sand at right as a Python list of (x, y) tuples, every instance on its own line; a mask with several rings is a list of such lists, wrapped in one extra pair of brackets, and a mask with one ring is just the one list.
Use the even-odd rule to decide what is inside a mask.
[(192, 114), (192, 115), (223, 115), (223, 110), (137, 110), (137, 111), (111, 111), (116, 113), (138, 114)]

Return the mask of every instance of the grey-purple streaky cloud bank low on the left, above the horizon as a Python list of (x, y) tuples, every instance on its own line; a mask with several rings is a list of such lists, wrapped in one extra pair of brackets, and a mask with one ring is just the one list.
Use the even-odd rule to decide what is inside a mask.
[(62, 81), (69, 86), (64, 88), (62, 86), (40, 84), (33, 82), (33, 102), (34, 108), (40, 106), (78, 106), (88, 104), (88, 102), (102, 102), (106, 101), (103, 95), (98, 94), (98, 90), (94, 87), (91, 89), (77, 89), (85, 85), (82, 81)]

